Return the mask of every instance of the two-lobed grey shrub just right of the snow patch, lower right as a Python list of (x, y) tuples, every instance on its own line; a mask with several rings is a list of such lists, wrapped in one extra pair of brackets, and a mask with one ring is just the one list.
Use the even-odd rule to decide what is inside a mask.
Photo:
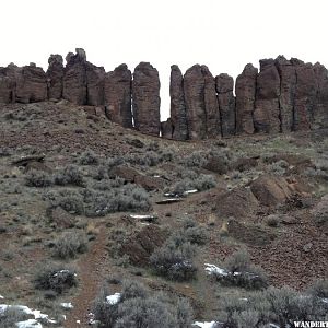
[(250, 263), (250, 257), (244, 249), (227, 257), (223, 265), (227, 273), (215, 273), (222, 284), (255, 290), (268, 286), (266, 273), (261, 268)]

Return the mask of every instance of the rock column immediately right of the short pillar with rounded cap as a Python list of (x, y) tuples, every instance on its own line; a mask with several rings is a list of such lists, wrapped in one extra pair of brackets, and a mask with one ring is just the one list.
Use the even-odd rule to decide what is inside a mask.
[(255, 108), (257, 69), (247, 63), (236, 79), (236, 132), (254, 133), (253, 114)]

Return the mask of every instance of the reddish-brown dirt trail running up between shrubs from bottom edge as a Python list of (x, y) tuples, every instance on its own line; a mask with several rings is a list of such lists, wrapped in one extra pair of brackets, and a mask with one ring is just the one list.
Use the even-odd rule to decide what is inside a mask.
[[(92, 302), (96, 297), (98, 289), (104, 281), (106, 266), (106, 230), (101, 229), (101, 233), (90, 251), (78, 261), (79, 267), (79, 291), (72, 300), (74, 308), (68, 314), (65, 323), (66, 328), (89, 327), (87, 314), (91, 311)], [(80, 324), (77, 323), (80, 320)]]

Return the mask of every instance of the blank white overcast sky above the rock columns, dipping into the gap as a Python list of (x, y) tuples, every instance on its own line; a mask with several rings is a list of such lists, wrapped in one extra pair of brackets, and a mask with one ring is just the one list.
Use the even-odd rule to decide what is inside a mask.
[(0, 66), (46, 70), (50, 54), (75, 48), (106, 71), (149, 61), (160, 72), (164, 120), (173, 63), (234, 78), (278, 55), (328, 67), (327, 12), (327, 0), (1, 0)]

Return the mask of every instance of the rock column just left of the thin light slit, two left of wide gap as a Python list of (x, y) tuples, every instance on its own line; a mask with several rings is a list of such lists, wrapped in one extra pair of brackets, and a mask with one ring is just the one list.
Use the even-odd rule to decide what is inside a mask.
[(105, 75), (104, 103), (107, 117), (125, 128), (132, 128), (132, 75), (122, 63)]

